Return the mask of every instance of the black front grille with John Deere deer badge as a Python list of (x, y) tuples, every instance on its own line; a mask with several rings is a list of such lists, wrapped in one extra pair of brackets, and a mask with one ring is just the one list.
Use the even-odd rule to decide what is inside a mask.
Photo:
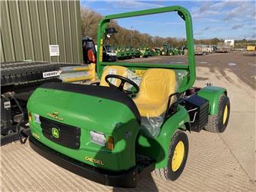
[[(40, 121), (42, 133), (49, 140), (71, 149), (78, 149), (80, 147), (81, 129), (79, 127), (62, 124), (43, 117), (40, 117)], [(55, 135), (54, 137), (52, 129), (58, 130), (57, 136)]]

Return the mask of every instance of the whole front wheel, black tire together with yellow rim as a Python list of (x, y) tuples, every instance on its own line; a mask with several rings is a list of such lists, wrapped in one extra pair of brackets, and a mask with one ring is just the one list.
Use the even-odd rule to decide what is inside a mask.
[[(177, 147), (178, 146), (178, 147)], [(178, 153), (178, 152), (183, 153)], [(176, 131), (171, 138), (167, 167), (155, 169), (154, 174), (163, 180), (176, 180), (185, 168), (188, 158), (188, 136), (182, 131)]]

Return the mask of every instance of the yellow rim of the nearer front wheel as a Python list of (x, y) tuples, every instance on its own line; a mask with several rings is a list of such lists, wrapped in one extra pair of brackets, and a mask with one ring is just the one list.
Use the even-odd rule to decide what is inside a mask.
[(176, 171), (178, 170), (179, 167), (181, 167), (184, 153), (185, 153), (185, 145), (182, 141), (178, 141), (178, 144), (175, 147), (175, 152), (171, 160), (171, 169), (173, 171)]

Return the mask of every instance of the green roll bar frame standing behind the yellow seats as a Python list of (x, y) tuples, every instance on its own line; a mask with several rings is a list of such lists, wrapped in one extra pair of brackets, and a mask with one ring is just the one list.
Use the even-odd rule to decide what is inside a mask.
[[(141, 15), (152, 15), (162, 12), (178, 12), (178, 15), (181, 15), (181, 18), (185, 20), (185, 29), (187, 37), (187, 47), (188, 47), (188, 65), (170, 65), (170, 64), (148, 64), (148, 63), (117, 63), (117, 62), (103, 62), (102, 61), (102, 51), (101, 47), (104, 45), (105, 38), (105, 29), (108, 27), (108, 24), (111, 19), (118, 18), (129, 18), (136, 17)], [(147, 68), (171, 68), (171, 69), (182, 69), (188, 71), (188, 78), (185, 78), (185, 81), (178, 88), (179, 92), (183, 92), (191, 88), (195, 81), (195, 60), (194, 60), (194, 39), (193, 39), (193, 27), (191, 15), (186, 8), (181, 6), (170, 6), (164, 8), (154, 8), (137, 12), (126, 12), (115, 15), (106, 15), (104, 18), (101, 18), (98, 24), (98, 50), (97, 51), (97, 73), (98, 77), (101, 78), (101, 74), (107, 65), (122, 65), (130, 69), (147, 69)], [(149, 54), (149, 53), (148, 53)]]

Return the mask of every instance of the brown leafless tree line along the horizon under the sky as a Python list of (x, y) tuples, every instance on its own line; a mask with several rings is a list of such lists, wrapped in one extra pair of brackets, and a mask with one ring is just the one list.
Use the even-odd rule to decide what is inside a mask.
[[(83, 36), (92, 38), (95, 43), (97, 43), (98, 22), (101, 18), (102, 15), (98, 12), (90, 8), (81, 7), (81, 33)], [(135, 48), (161, 48), (165, 44), (173, 45), (175, 48), (181, 48), (186, 45), (185, 38), (154, 37), (147, 33), (141, 33), (138, 30), (122, 28), (115, 20), (111, 20), (109, 27), (115, 27), (118, 33), (105, 40), (105, 43), (108, 45), (134, 46)], [(223, 42), (224, 40), (219, 38), (194, 39), (194, 44), (217, 45), (220, 41)], [(239, 45), (251, 43), (251, 41), (248, 42), (247, 40), (238, 42)], [(252, 43), (255, 43), (255, 41)]]

